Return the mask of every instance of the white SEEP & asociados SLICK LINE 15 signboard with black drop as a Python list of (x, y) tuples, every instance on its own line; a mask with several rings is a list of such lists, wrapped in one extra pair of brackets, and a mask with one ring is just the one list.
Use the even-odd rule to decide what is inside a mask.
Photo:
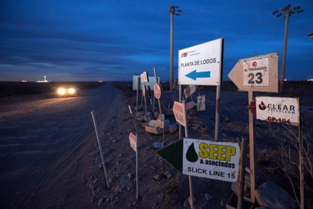
[(183, 174), (236, 182), (240, 146), (236, 142), (184, 139)]

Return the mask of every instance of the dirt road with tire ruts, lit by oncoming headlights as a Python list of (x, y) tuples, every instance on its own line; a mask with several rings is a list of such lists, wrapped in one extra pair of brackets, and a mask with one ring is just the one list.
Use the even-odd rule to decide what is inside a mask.
[(0, 208), (97, 208), (86, 178), (96, 137), (120, 91), (106, 84), (78, 97), (0, 100)]

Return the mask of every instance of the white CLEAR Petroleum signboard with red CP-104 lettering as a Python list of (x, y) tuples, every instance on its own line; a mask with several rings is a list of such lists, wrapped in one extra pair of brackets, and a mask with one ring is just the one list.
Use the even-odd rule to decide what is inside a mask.
[(299, 99), (290, 97), (255, 97), (256, 118), (298, 126), (300, 123)]

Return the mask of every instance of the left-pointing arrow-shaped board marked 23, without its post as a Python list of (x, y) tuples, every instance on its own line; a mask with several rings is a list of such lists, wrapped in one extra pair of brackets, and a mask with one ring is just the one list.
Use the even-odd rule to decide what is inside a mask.
[(278, 53), (239, 60), (229, 78), (239, 91), (278, 92)]

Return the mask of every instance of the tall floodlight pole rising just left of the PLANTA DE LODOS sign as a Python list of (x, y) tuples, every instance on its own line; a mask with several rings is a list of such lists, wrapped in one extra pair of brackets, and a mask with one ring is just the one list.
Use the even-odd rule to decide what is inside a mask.
[[(179, 16), (181, 13), (180, 9), (175, 10), (175, 8), (179, 8), (179, 6), (170, 6), (170, 91), (173, 89), (173, 77), (174, 77), (174, 61), (173, 61), (173, 19), (174, 15)], [(175, 14), (175, 12), (177, 13)]]

